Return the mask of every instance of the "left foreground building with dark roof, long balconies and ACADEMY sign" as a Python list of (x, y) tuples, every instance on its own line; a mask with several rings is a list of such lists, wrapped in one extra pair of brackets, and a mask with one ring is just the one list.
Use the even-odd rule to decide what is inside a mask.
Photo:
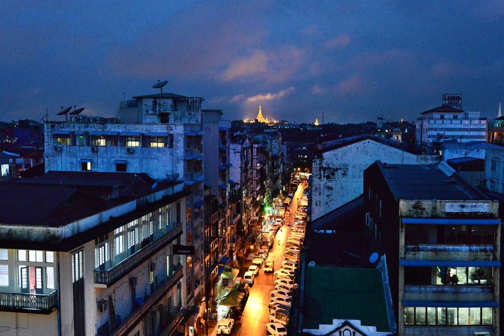
[[(27, 196), (28, 195), (28, 196)], [(48, 172), (0, 185), (6, 335), (168, 335), (187, 312), (182, 181)]]

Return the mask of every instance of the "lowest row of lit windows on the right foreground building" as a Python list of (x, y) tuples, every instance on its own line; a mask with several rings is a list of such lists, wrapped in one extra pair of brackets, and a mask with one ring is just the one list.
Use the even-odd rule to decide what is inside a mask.
[(405, 325), (492, 325), (489, 307), (404, 307)]

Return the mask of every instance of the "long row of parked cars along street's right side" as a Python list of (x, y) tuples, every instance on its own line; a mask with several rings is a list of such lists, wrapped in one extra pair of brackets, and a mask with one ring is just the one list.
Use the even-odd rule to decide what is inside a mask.
[[(285, 221), (290, 223), (286, 218)], [(269, 304), (270, 323), (266, 324), (266, 332), (272, 335), (286, 335), (289, 323), (292, 293), (297, 289), (297, 270), (299, 255), (306, 231), (306, 208), (298, 207), (295, 221), (285, 243), (284, 260), (279, 270), (275, 271), (275, 289), (271, 292)]]

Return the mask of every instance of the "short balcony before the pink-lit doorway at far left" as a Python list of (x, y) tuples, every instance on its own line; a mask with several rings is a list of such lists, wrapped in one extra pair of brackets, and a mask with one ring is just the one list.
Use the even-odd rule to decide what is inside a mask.
[(57, 305), (57, 293), (48, 295), (28, 293), (0, 293), (0, 311), (50, 314)]

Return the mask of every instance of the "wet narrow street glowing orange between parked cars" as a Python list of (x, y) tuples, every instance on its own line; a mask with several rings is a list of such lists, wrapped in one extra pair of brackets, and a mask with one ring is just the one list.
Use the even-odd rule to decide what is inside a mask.
[[(290, 204), (290, 225), (294, 223), (297, 209), (297, 198), (303, 194), (302, 185), (298, 185), (296, 193)], [(270, 250), (269, 258), (275, 261), (275, 271), (278, 270), (284, 260), (285, 241), (290, 235), (291, 226), (284, 225), (277, 232), (274, 247)], [(280, 245), (278, 241), (280, 240)], [(259, 271), (259, 276), (255, 284), (250, 289), (241, 321), (236, 322), (234, 335), (266, 335), (265, 325), (269, 322), (268, 304), (270, 303), (270, 292), (274, 290), (275, 275), (273, 273), (264, 273), (263, 268)]]

